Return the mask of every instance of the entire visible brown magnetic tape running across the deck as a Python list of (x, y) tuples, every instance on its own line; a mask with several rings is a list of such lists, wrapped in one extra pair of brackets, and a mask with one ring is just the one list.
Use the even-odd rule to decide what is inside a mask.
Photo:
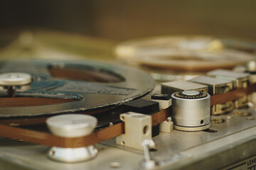
[[(219, 94), (211, 96), (210, 105), (225, 103), (228, 101), (234, 101), (242, 96), (252, 94), (256, 91), (256, 84), (251, 84), (246, 89), (237, 89), (235, 91), (230, 91), (226, 94)], [(152, 125), (157, 125), (166, 118), (168, 118), (170, 108), (159, 111), (151, 115)], [(124, 123), (117, 123), (108, 128), (93, 132), (91, 135), (85, 137), (57, 137), (55, 135), (50, 135), (46, 132), (37, 132), (33, 130), (26, 130), (22, 128), (13, 128), (7, 125), (0, 125), (0, 136), (9, 137), (15, 140), (23, 140), (26, 142), (32, 142), (40, 145), (48, 145), (55, 147), (86, 147), (93, 145), (105, 140), (109, 140), (112, 137), (117, 137), (124, 134)]]

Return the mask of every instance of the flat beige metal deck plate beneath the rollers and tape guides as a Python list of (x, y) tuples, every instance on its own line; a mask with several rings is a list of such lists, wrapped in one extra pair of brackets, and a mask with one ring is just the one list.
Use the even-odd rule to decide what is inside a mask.
[[(256, 155), (256, 116), (250, 113), (213, 116), (223, 123), (212, 123), (210, 130), (218, 132), (183, 132), (174, 130), (153, 138), (157, 150), (151, 156), (159, 169), (221, 169)], [(65, 164), (46, 157), (49, 147), (1, 138), (1, 167), (26, 169), (142, 169), (143, 152), (117, 146), (115, 140), (96, 145), (99, 154), (88, 162)], [(10, 166), (11, 164), (11, 166)], [(118, 165), (118, 166), (117, 166)], [(13, 168), (13, 167), (12, 167)], [(11, 168), (11, 169), (12, 169)]]

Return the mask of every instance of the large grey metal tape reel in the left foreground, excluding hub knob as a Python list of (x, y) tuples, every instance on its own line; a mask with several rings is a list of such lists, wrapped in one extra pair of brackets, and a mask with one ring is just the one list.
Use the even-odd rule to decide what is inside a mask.
[(118, 106), (154, 89), (139, 69), (90, 61), (1, 61), (0, 74), (31, 75), (31, 84), (0, 86), (0, 117), (85, 113)]

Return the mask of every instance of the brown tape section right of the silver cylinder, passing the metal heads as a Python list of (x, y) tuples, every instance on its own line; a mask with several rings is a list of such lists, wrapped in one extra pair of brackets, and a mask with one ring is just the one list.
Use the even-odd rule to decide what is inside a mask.
[(250, 84), (250, 86), (245, 89), (237, 89), (235, 91), (230, 91), (225, 94), (210, 96), (210, 106), (226, 103), (228, 101), (235, 101), (238, 98), (242, 98), (243, 96), (252, 94), (252, 92), (254, 91), (256, 91), (256, 84)]

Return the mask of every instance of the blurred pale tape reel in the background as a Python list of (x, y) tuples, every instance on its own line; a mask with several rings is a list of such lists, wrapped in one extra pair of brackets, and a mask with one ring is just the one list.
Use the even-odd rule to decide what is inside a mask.
[(115, 48), (117, 57), (129, 64), (191, 72), (231, 69), (255, 60), (255, 52), (252, 42), (199, 35), (129, 40)]

